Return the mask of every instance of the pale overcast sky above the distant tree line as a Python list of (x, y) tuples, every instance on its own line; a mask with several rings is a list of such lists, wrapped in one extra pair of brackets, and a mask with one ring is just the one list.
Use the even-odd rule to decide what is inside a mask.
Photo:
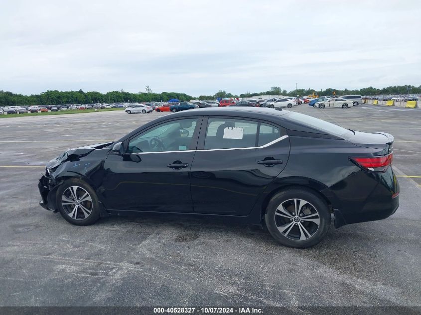
[(0, 0), (0, 90), (421, 85), (419, 0)]

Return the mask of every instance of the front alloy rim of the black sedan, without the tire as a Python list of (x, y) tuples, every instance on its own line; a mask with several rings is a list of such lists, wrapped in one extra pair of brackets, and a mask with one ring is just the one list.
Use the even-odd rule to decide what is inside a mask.
[(61, 204), (66, 214), (75, 220), (88, 218), (93, 209), (91, 196), (80, 186), (68, 187), (61, 196)]

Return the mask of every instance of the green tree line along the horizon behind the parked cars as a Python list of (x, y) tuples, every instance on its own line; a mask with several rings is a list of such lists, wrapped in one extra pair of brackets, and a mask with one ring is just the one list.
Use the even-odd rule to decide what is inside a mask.
[[(170, 99), (178, 99), (181, 102), (190, 101), (194, 97), (176, 92), (153, 93), (147, 86), (146, 92), (129, 93), (123, 90), (112, 91), (106, 94), (100, 92), (83, 92), (79, 91), (47, 91), (41, 94), (22, 95), (12, 92), (0, 91), (0, 105), (61, 105), (61, 104), (92, 104), (92, 103), (143, 103), (143, 102), (167, 102)], [(259, 95), (283, 95), (283, 96), (306, 96), (316, 92), (318, 95), (337, 96), (347, 94), (357, 94), (362, 96), (370, 95), (390, 95), (390, 94), (421, 94), (421, 85), (416, 87), (412, 85), (390, 86), (383, 89), (373, 87), (363, 88), (360, 90), (341, 90), (328, 88), (326, 90), (316, 91), (313, 89), (297, 89), (287, 92), (281, 87), (272, 87), (269, 91), (258, 93), (246, 92), (240, 95), (227, 93), (220, 90), (214, 95), (201, 95), (199, 100), (214, 100), (216, 98), (251, 98)]]

